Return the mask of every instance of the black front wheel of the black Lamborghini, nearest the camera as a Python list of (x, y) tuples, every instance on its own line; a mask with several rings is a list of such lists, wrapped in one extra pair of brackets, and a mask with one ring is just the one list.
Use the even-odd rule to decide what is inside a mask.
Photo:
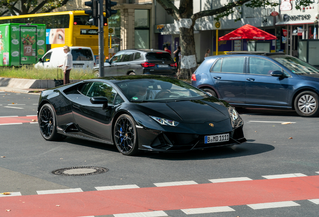
[(135, 155), (138, 152), (135, 121), (129, 115), (121, 115), (114, 126), (114, 144), (123, 155)]

